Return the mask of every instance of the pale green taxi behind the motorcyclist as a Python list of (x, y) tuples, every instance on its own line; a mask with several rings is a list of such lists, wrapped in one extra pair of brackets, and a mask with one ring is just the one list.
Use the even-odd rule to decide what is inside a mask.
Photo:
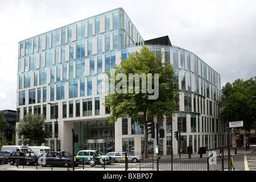
[(81, 150), (77, 153), (76, 158), (80, 159), (81, 162), (89, 163), (90, 158), (93, 157), (93, 152), (97, 152), (97, 154), (101, 156), (101, 159), (103, 159), (105, 164), (110, 164), (112, 162), (111, 158), (108, 155), (104, 155), (101, 151), (97, 150)]

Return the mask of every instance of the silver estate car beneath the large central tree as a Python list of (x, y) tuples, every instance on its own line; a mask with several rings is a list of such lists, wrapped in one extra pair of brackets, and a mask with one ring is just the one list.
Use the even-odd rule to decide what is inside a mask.
[[(118, 161), (123, 161), (123, 156), (125, 155), (125, 152), (109, 152), (106, 155), (110, 156), (114, 160), (114, 162), (118, 162)], [(127, 159), (128, 159), (128, 162), (136, 163), (138, 161), (143, 160), (143, 156), (133, 155), (127, 152)]]

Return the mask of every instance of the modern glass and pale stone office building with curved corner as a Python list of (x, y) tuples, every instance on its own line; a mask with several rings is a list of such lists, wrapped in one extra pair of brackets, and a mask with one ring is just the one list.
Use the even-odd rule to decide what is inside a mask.
[[(137, 118), (119, 118), (109, 123), (109, 110), (102, 105), (108, 96), (106, 71), (139, 51), (147, 43), (123, 9), (118, 8), (19, 42), (17, 117), (26, 113), (46, 115), (46, 130), (52, 134), (46, 146), (72, 152), (72, 129), (79, 134), (75, 152), (81, 149), (143, 153), (144, 129)], [(225, 145), (226, 133), (218, 119), (220, 75), (194, 53), (172, 46), (147, 45), (174, 65), (180, 89), (179, 110), (172, 118), (172, 133), (184, 135), (182, 152), (192, 146), (207, 150)], [(158, 43), (156, 43), (158, 44)], [(122, 56), (122, 59), (121, 59)], [(165, 137), (160, 153), (170, 154), (171, 118), (158, 121)], [(16, 123), (18, 127), (19, 122)], [(19, 137), (16, 137), (17, 144)], [(154, 154), (155, 139), (148, 152)], [(178, 142), (173, 142), (174, 154)]]

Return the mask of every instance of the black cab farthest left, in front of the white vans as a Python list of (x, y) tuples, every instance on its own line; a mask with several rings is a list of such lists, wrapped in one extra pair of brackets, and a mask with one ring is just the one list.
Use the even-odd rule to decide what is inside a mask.
[(38, 157), (34, 154), (34, 152), (13, 152), (8, 157), (8, 162), (11, 165), (14, 165), (17, 161), (19, 164), (31, 165), (38, 162)]

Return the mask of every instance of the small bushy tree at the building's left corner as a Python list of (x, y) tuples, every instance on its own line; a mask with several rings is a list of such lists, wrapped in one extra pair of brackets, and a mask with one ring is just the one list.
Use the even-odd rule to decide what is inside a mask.
[(44, 120), (43, 114), (32, 115), (30, 113), (20, 119), (17, 133), (22, 136), (22, 142), (28, 145), (35, 144), (36, 146), (41, 146), (42, 143), (45, 143), (49, 132), (44, 130)]

